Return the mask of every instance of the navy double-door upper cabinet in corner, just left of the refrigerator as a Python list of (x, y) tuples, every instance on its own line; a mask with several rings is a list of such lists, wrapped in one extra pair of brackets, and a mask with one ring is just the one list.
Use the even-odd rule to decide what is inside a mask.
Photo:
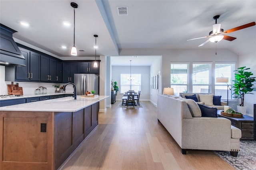
[(78, 62), (63, 62), (62, 82), (74, 82), (74, 74), (78, 72)]

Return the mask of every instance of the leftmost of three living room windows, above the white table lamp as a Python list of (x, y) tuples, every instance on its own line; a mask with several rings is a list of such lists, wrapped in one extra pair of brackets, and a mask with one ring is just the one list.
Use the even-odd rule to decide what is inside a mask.
[(188, 90), (188, 64), (171, 64), (171, 87), (179, 94)]

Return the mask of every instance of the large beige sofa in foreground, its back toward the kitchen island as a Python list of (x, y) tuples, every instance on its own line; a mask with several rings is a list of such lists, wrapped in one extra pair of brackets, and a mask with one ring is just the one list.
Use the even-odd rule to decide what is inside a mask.
[(226, 118), (201, 117), (198, 108), (192, 99), (159, 94), (157, 118), (178, 143), (182, 154), (189, 149), (198, 149), (225, 150), (237, 156), (241, 130)]

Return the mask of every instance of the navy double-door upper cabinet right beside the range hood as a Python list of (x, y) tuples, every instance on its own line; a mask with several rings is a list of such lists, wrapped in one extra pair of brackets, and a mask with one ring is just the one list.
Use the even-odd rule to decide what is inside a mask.
[(17, 80), (40, 81), (40, 54), (20, 48), (26, 66), (16, 66)]

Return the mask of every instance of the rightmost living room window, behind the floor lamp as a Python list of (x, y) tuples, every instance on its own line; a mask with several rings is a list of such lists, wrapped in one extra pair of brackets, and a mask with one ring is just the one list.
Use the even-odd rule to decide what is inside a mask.
[[(215, 83), (215, 95), (222, 99), (233, 99), (232, 86), (234, 80), (235, 64), (215, 64), (215, 82), (217, 77), (228, 77), (228, 83)], [(230, 89), (228, 88), (230, 87)]]

